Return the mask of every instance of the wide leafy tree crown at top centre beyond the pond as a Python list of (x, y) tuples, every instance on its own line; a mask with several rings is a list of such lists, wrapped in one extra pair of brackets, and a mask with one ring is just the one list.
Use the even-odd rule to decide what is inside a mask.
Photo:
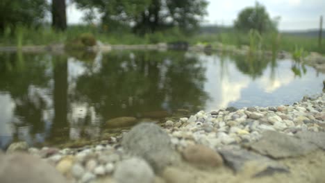
[(194, 30), (206, 15), (206, 0), (74, 0), (78, 8), (97, 8), (105, 24), (118, 22), (132, 25), (136, 33), (153, 33), (163, 28), (178, 26)]

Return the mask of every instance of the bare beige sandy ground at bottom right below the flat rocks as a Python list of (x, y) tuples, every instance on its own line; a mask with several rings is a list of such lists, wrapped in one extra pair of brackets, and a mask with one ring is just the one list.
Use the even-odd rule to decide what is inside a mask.
[[(285, 166), (288, 166), (290, 173), (275, 173), (272, 176), (265, 177), (253, 177), (254, 168), (245, 168), (241, 173), (237, 175), (233, 173), (231, 168), (222, 166), (214, 169), (200, 170), (194, 166), (190, 166), (187, 163), (182, 163), (180, 169), (182, 171), (194, 175), (194, 179), (188, 183), (235, 183), (235, 182), (265, 182), (265, 183), (281, 183), (281, 182), (325, 182), (325, 151), (317, 150), (314, 153), (303, 157), (288, 158), (279, 160)], [(156, 183), (161, 181), (156, 181)]]

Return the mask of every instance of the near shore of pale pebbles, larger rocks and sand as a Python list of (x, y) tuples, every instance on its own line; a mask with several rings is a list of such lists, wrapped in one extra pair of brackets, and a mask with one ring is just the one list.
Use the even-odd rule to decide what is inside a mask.
[[(110, 142), (76, 149), (12, 143), (6, 156), (22, 150), (45, 159), (68, 182), (123, 182), (121, 176), (128, 173), (133, 180), (142, 177), (140, 182), (194, 182), (194, 175), (199, 182), (259, 182), (253, 177), (260, 175), (265, 182), (324, 180), (324, 93), (305, 96), (293, 105), (200, 111), (166, 121), (163, 128), (137, 126), (141, 124)], [(119, 168), (134, 161), (136, 168)]]

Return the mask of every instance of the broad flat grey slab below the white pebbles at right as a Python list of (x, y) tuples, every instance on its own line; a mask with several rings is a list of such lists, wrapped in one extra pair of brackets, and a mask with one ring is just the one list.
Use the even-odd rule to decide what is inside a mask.
[(249, 146), (262, 155), (274, 158), (297, 157), (317, 149), (306, 139), (299, 139), (275, 131), (265, 131), (262, 138)]

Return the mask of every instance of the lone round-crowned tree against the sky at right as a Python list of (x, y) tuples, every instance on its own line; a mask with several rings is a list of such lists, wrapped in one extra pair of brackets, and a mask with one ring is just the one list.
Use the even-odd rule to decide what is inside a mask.
[(255, 7), (244, 8), (235, 20), (235, 28), (243, 31), (251, 29), (265, 33), (270, 30), (277, 30), (278, 18), (272, 20), (265, 10), (265, 6), (256, 2)]

